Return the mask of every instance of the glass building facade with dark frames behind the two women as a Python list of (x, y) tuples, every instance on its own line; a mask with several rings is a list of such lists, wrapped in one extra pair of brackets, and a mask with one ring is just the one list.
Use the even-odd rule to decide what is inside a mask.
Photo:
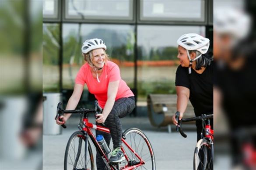
[(81, 44), (101, 38), (137, 106), (151, 93), (175, 94), (176, 40), (197, 33), (212, 42), (212, 7), (213, 0), (43, 0), (43, 92), (72, 91)]

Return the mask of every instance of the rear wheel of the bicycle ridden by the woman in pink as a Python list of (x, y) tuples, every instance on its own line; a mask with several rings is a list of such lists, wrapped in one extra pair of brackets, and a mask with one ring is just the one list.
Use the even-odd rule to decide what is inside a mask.
[[(137, 128), (127, 129), (123, 136), (126, 143), (140, 156), (144, 164), (135, 168), (135, 170), (155, 170), (155, 159), (152, 146), (147, 139), (147, 136)], [(135, 156), (135, 154), (124, 144), (122, 147), (125, 151), (128, 160), (121, 163), (120, 167), (130, 167), (140, 163), (140, 160)], [(121, 169), (121, 168), (120, 168)]]

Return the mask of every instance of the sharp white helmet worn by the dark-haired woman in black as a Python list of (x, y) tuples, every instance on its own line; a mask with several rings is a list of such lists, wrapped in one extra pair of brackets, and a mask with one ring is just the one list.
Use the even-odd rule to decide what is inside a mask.
[[(210, 40), (195, 33), (184, 34), (177, 40), (177, 43), (186, 50), (196, 50), (201, 54), (207, 53)], [(190, 58), (189, 58), (190, 60)]]

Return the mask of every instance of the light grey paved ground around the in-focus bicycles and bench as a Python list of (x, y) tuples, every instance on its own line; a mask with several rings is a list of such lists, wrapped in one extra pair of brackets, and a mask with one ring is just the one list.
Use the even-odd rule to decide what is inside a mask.
[[(154, 128), (150, 125), (147, 117), (127, 117), (123, 118), (122, 122), (123, 129), (130, 127), (140, 128), (150, 139), (155, 154), (157, 170), (193, 169), (193, 152), (196, 145), (195, 126), (184, 126), (185, 133), (188, 135), (185, 139), (177, 132), (168, 133), (167, 127)], [(61, 135), (43, 136), (43, 170), (63, 170), (67, 140), (77, 130), (77, 123), (77, 118), (70, 118), (67, 129), (63, 129)], [(174, 131), (174, 129), (172, 130)]]

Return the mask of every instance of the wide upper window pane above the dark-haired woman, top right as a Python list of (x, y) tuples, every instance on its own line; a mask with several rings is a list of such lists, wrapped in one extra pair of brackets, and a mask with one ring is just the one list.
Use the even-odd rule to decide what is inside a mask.
[(142, 0), (141, 20), (204, 21), (204, 0)]

